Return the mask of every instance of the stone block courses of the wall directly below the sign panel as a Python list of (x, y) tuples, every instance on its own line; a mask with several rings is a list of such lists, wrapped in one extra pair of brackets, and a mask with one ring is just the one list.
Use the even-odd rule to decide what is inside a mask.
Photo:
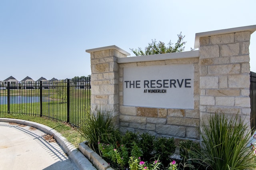
[[(133, 112), (130, 112), (131, 110)], [(197, 110), (120, 107), (122, 133), (128, 130), (139, 133), (149, 132), (155, 136), (198, 139), (199, 123)]]

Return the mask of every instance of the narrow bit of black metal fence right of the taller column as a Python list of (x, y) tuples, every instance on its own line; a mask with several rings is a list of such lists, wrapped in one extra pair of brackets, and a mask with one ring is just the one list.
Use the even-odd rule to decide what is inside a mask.
[(256, 130), (256, 73), (250, 72), (251, 128)]

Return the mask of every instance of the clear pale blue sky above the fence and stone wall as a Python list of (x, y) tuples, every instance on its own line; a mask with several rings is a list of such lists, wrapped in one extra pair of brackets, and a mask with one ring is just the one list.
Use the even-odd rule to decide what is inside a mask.
[[(256, 25), (256, 0), (0, 0), (0, 80), (91, 74), (86, 49), (144, 48), (152, 39)], [(256, 72), (256, 32), (251, 35)]]

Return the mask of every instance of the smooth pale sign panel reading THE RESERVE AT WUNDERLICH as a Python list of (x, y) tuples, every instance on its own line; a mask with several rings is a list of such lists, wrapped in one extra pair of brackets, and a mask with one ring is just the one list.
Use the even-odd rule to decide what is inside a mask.
[(194, 109), (194, 65), (124, 68), (124, 105)]

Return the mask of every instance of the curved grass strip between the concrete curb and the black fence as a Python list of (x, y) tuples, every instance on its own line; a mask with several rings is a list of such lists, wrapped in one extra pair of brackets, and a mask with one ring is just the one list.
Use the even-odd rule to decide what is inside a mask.
[(26, 121), (41, 123), (43, 125), (51, 127), (57, 130), (60, 134), (62, 134), (62, 136), (67, 138), (67, 140), (77, 148), (79, 143), (85, 140), (85, 138), (82, 137), (82, 135), (78, 132), (78, 130), (76, 130), (76, 128), (73, 128), (66, 123), (50, 121), (48, 119), (44, 119), (43, 117), (33, 117), (33, 116), (26, 116), (21, 114), (0, 113), (0, 117), (22, 119)]

